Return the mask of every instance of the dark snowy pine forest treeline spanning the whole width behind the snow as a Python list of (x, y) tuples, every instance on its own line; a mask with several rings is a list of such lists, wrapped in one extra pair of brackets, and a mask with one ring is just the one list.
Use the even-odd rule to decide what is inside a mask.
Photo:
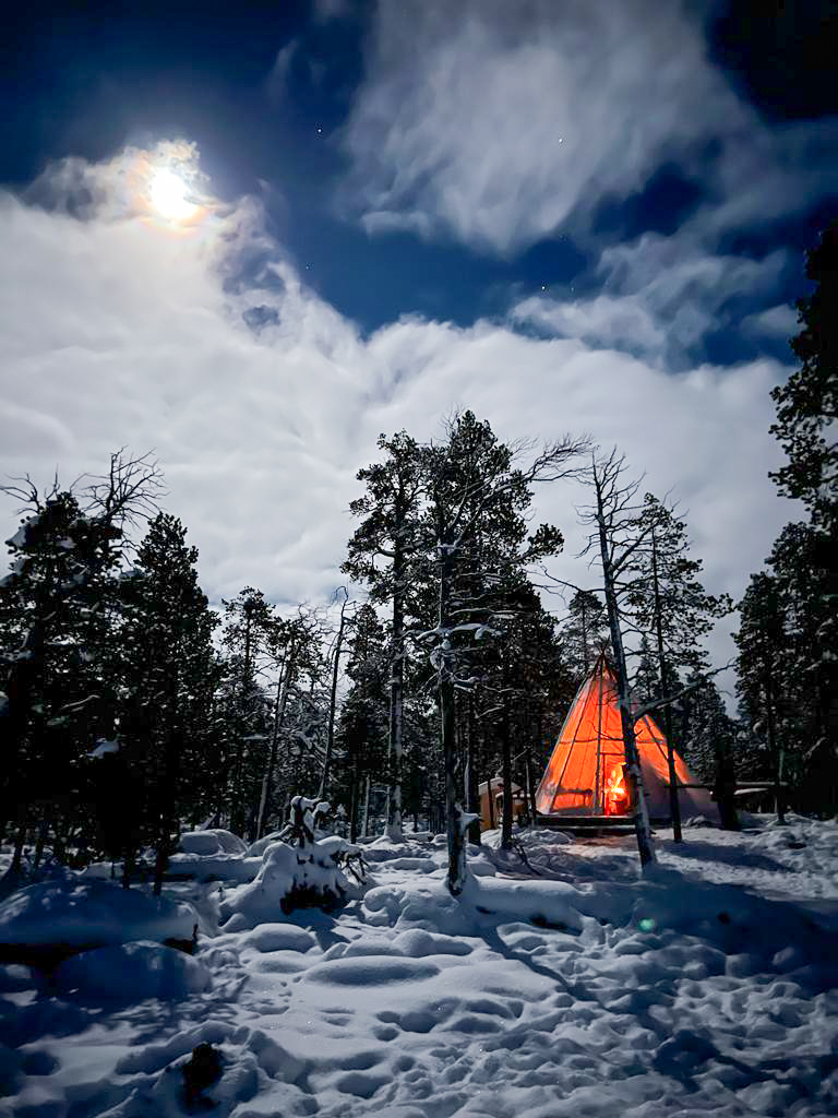
[[(780, 492), (806, 519), (751, 577), (731, 716), (704, 641), (734, 603), (702, 585), (688, 525), (617, 452), (569, 436), (504, 444), (472, 411), (436, 442), (382, 435), (360, 470), (346, 585), (279, 608), (245, 587), (218, 610), (198, 552), (159, 510), (149, 456), (46, 490), (6, 486), (22, 520), (0, 582), (1, 824), (35, 863), (108, 858), (156, 885), (187, 826), (269, 833), (291, 798), (328, 799), (350, 837), (406, 817), (464, 861), (478, 786), (534, 788), (598, 653), (625, 709), (651, 708), (693, 771), (730, 794), (774, 781), (782, 809), (838, 809), (834, 442), (838, 235), (809, 254), (800, 367), (774, 390)], [(589, 530), (591, 585), (551, 574), (562, 527), (532, 524), (561, 483)], [(575, 489), (573, 489), (575, 486)], [(628, 729), (626, 731), (629, 732)], [(501, 818), (506, 843), (512, 798)]]

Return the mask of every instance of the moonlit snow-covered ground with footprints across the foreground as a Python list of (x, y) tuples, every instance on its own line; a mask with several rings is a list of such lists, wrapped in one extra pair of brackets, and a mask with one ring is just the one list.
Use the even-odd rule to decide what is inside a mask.
[[(682, 847), (660, 832), (644, 879), (630, 839), (521, 839), (539, 875), (484, 849), (459, 901), (439, 840), (378, 841), (364, 896), (331, 916), (277, 907), (255, 922), (259, 879), (240, 866), (221, 887), (168, 887), (166, 927), (197, 912), (193, 958), (112, 944), (40, 989), (2, 968), (0, 1115), (181, 1116), (201, 1042), (222, 1058), (207, 1089), (218, 1118), (838, 1112), (838, 824), (692, 827)], [(215, 869), (254, 861), (187, 845)], [(116, 887), (93, 885), (111, 928), (103, 888)], [(10, 904), (31, 920), (53, 898), (56, 925), (65, 894), (82, 896), (78, 881), (35, 888), (38, 901), (0, 907), (0, 929)]]

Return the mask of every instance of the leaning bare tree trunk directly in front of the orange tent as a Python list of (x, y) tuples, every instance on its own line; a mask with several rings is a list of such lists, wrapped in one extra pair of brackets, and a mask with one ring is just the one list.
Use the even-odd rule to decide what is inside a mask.
[(622, 726), (622, 743), (626, 752), (626, 784), (631, 795), (631, 806), (635, 815), (635, 834), (637, 836), (637, 849), (640, 854), (640, 865), (654, 864), (655, 846), (651, 841), (651, 827), (649, 825), (649, 812), (646, 806), (646, 794), (644, 792), (642, 771), (640, 769), (640, 758), (637, 751), (637, 739), (635, 737), (635, 721), (631, 712), (631, 700), (628, 689), (628, 672), (626, 670), (626, 653), (622, 647), (622, 632), (620, 629), (620, 614), (617, 605), (617, 590), (613, 568), (609, 550), (608, 525), (606, 522), (606, 510), (602, 500), (602, 486), (598, 474), (594, 475), (594, 486), (597, 492), (597, 525), (599, 530), (600, 556), (602, 560), (602, 579), (606, 589), (606, 606), (608, 609), (608, 627), (611, 633), (611, 647), (615, 659), (615, 671), (617, 673), (617, 694), (620, 707), (620, 723)]

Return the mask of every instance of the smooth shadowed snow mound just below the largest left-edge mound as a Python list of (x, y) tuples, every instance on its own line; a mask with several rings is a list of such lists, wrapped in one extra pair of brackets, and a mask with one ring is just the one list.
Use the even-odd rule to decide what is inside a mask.
[(63, 994), (76, 993), (84, 999), (171, 1001), (203, 993), (210, 975), (191, 955), (146, 940), (74, 955), (58, 967), (55, 980)]

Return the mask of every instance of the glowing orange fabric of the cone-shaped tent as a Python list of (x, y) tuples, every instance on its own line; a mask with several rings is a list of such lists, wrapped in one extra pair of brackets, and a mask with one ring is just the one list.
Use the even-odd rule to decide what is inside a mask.
[[(669, 762), (666, 738), (648, 714), (635, 723), (646, 802), (651, 818), (669, 817)], [(622, 726), (617, 679), (604, 656), (582, 683), (535, 794), (542, 815), (625, 815), (631, 809), (622, 779)], [(678, 784), (695, 784), (675, 754)], [(703, 788), (678, 792), (682, 818), (718, 812)]]

